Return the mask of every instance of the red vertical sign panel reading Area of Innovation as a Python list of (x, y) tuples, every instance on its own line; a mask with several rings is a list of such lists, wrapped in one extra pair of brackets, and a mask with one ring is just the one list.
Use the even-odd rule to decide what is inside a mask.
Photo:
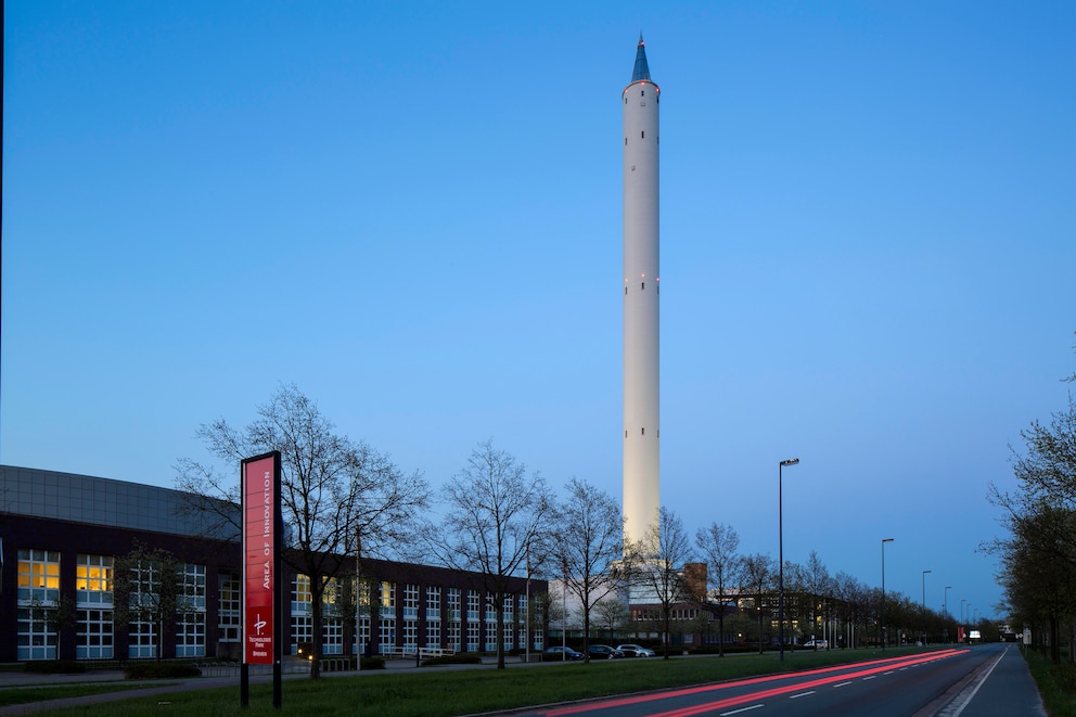
[(243, 461), (243, 662), (271, 665), (279, 652), (280, 453)]

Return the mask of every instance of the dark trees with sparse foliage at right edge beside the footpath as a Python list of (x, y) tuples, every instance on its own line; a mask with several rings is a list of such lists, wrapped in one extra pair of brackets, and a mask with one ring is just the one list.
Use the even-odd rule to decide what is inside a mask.
[[(1073, 374), (1067, 382), (1076, 381)], [(1062, 641), (1076, 661), (1076, 402), (1021, 432), (1025, 452), (1012, 450), (1016, 488), (990, 486), (1009, 536), (984, 546), (999, 558), (1003, 609), (1017, 629), (1061, 662)]]

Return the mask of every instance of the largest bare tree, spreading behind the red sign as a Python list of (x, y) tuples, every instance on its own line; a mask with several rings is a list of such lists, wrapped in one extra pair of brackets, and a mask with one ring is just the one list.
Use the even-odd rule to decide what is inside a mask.
[[(387, 456), (335, 433), (317, 404), (294, 385), (281, 386), (257, 413), (242, 431), (218, 419), (196, 435), (236, 473), (244, 458), (280, 451), (281, 509), (289, 527), (283, 560), (310, 579), (310, 677), (317, 679), (326, 580), (358, 563), (362, 551), (399, 554), (415, 535), (415, 515), (427, 505), (428, 488), (421, 474), (405, 474)], [(239, 502), (238, 483), (209, 466), (180, 461), (177, 488), (221, 521), (228, 520), (219, 510), (221, 499)]]

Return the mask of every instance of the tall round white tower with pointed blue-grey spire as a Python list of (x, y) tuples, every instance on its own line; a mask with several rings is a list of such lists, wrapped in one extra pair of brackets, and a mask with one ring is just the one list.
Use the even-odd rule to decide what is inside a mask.
[(656, 527), (658, 423), (658, 100), (642, 37), (624, 110), (624, 515), (625, 539)]

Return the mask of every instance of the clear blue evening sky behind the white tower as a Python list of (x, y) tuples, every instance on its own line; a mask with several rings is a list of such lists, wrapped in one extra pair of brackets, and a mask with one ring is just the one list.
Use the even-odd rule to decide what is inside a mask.
[[(1076, 370), (1071, 2), (5, 3), (0, 461), (161, 486), (281, 382), (439, 485), (620, 495), (662, 87), (662, 501), (940, 609)], [(221, 466), (235, 470), (238, 466)]]

